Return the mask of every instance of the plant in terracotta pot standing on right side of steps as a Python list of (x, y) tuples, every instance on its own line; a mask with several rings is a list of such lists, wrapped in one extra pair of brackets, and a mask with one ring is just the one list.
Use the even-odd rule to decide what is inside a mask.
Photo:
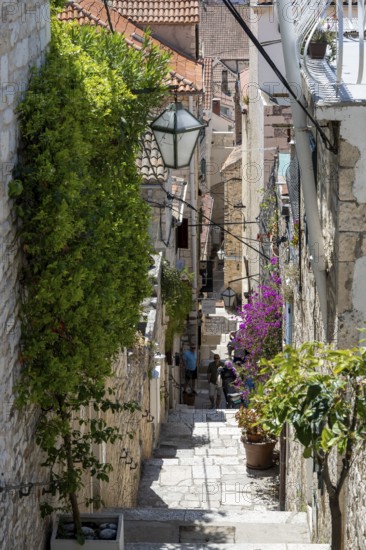
[(249, 408), (241, 407), (235, 415), (239, 428), (242, 429), (241, 440), (244, 444), (247, 467), (265, 470), (273, 466), (273, 451), (276, 439), (262, 424), (261, 405), (259, 401), (250, 402)]

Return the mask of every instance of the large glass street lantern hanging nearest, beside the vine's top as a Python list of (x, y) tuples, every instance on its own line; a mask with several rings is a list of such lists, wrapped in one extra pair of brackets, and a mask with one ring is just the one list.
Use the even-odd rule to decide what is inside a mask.
[(167, 168), (189, 166), (200, 130), (204, 127), (178, 102), (172, 103), (150, 124)]

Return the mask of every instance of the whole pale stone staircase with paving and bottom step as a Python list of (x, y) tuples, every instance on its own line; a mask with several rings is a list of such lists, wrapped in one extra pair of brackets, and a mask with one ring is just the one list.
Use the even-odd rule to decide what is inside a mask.
[(277, 465), (246, 468), (234, 415), (184, 405), (169, 414), (137, 507), (114, 509), (125, 550), (329, 550), (310, 543), (305, 513), (278, 511)]

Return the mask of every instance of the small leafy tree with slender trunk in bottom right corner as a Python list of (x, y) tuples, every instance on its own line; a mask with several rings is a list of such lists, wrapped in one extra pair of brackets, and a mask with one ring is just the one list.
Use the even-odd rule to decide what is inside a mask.
[[(270, 374), (261, 404), (266, 429), (279, 435), (286, 424), (324, 480), (331, 516), (332, 550), (343, 548), (341, 493), (366, 433), (366, 348), (334, 350), (319, 342), (286, 346), (263, 362)], [(340, 467), (332, 471), (331, 453)]]

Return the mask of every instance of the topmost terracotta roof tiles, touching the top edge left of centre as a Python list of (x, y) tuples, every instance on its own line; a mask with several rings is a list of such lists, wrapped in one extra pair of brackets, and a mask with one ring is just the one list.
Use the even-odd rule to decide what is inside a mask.
[(110, 0), (119, 13), (141, 24), (195, 24), (199, 21), (198, 0)]

